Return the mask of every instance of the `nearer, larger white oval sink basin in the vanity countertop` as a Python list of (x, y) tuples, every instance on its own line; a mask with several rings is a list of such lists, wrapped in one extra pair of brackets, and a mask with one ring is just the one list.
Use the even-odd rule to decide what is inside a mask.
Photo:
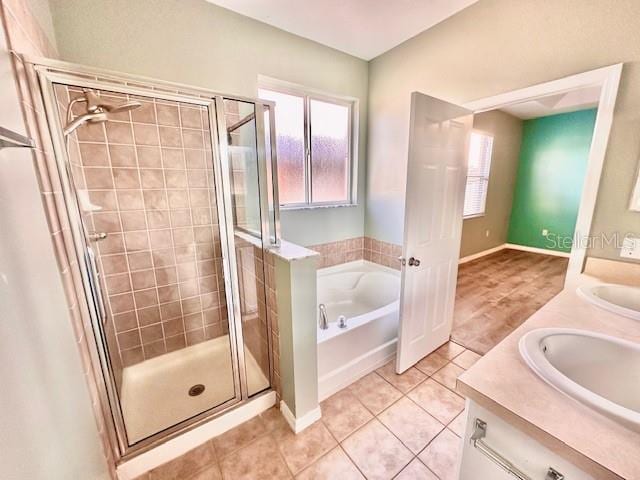
[(640, 432), (640, 344), (568, 328), (540, 328), (520, 339), (520, 354), (565, 395)]

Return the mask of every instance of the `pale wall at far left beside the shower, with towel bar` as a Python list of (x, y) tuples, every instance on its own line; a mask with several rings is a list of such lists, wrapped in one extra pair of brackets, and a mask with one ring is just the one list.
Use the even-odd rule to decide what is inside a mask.
[[(25, 134), (32, 124), (23, 113), (32, 105), (16, 88), (10, 49), (54, 50), (26, 2), (0, 4), (0, 125)], [(0, 150), (0, 477), (106, 480), (79, 332), (43, 209), (34, 162), (40, 154)]]

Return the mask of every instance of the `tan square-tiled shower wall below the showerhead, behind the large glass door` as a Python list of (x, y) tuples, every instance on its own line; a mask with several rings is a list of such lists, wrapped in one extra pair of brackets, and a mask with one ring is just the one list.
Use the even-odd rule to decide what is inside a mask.
[(87, 228), (108, 235), (97, 252), (124, 367), (228, 330), (208, 111), (135, 100), (70, 142)]

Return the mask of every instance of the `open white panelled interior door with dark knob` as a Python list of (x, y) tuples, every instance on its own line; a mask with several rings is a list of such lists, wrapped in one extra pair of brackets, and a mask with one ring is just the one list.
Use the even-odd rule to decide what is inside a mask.
[(451, 334), (472, 121), (462, 107), (411, 95), (398, 373)]

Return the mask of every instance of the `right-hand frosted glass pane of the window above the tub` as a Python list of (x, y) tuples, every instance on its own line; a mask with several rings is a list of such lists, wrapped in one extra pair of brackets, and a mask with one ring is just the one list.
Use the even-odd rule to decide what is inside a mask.
[(311, 201), (349, 200), (349, 108), (310, 101)]

